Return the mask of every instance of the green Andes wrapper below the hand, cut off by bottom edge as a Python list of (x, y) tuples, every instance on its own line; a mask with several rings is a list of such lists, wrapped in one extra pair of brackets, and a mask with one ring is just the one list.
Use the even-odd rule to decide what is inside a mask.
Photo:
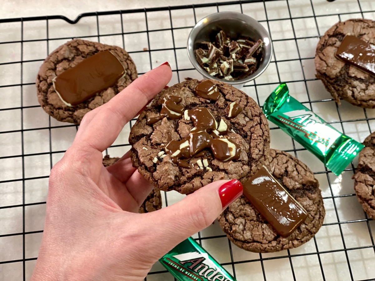
[(236, 281), (193, 238), (187, 238), (159, 262), (178, 281)]

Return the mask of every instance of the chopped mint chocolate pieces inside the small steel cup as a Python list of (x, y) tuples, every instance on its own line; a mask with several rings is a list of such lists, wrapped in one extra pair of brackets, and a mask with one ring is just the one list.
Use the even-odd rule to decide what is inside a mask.
[(214, 42), (203, 41), (195, 50), (199, 65), (211, 76), (228, 81), (252, 75), (262, 61), (263, 41), (246, 36), (230, 38), (220, 30)]

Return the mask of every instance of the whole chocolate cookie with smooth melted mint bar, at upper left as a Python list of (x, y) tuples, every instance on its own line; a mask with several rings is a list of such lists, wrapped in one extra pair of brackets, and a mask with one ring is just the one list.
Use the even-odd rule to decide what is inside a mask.
[(55, 49), (40, 66), (40, 105), (58, 121), (80, 124), (137, 78), (129, 54), (118, 46), (74, 39)]

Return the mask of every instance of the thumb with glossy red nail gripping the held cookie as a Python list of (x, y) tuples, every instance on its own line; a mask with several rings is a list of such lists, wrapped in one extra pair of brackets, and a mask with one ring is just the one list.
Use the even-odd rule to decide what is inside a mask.
[(149, 213), (156, 229), (159, 256), (168, 253), (181, 241), (210, 226), (221, 212), (241, 196), (242, 184), (237, 179), (215, 181), (174, 205)]

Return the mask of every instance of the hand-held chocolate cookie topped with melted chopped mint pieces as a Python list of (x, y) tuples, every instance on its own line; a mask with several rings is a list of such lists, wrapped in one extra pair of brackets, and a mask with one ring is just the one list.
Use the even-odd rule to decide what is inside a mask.
[[(202, 92), (203, 86), (207, 86), (208, 92)], [(217, 100), (210, 95), (216, 95), (214, 98)], [(168, 106), (180, 113), (165, 117), (162, 113), (168, 111)], [(195, 119), (194, 115), (198, 113), (207, 115), (207, 123), (201, 124), (198, 117)], [(214, 130), (215, 127), (217, 130)], [(228, 147), (235, 145), (236, 149), (232, 152), (236, 151), (236, 155), (233, 152), (232, 158), (220, 158), (211, 146), (175, 161), (174, 157), (183, 154), (184, 149), (196, 145), (198, 133), (211, 138), (207, 132), (216, 134), (212, 143), (221, 142), (217, 141), (221, 139), (227, 142), (224, 144)], [(177, 141), (183, 142), (178, 148), (181, 151), (169, 153), (172, 151), (171, 144)], [(269, 142), (266, 117), (251, 97), (223, 82), (196, 79), (161, 91), (139, 115), (129, 136), (132, 145), (130, 158), (139, 173), (160, 190), (177, 190), (182, 194), (192, 193), (219, 179), (242, 181), (250, 178), (266, 160)]]

